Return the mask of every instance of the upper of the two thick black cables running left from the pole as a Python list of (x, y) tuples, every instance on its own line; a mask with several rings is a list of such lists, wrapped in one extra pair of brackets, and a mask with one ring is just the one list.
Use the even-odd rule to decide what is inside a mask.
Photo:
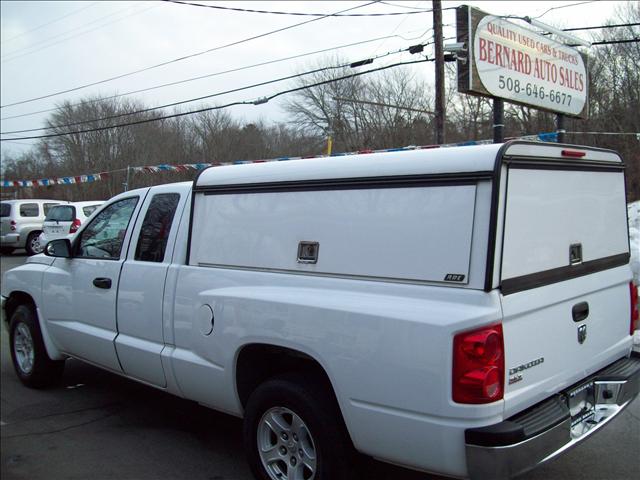
[(165, 105), (159, 105), (157, 107), (145, 108), (145, 109), (137, 110), (137, 111), (134, 111), (134, 112), (120, 113), (120, 114), (117, 114), (117, 115), (109, 115), (107, 117), (94, 118), (94, 119), (91, 119), (91, 120), (82, 120), (82, 121), (79, 121), (79, 122), (67, 123), (67, 124), (63, 124), (63, 125), (52, 125), (50, 127), (39, 127), (39, 128), (30, 128), (30, 129), (26, 129), (26, 130), (13, 130), (13, 131), (9, 131), (9, 132), (0, 132), (0, 135), (15, 135), (15, 134), (18, 134), (18, 133), (37, 132), (39, 130), (53, 130), (53, 129), (57, 129), (57, 128), (75, 127), (77, 125), (86, 125), (86, 124), (94, 123), (94, 122), (103, 122), (103, 121), (106, 121), (106, 120), (113, 120), (115, 118), (128, 117), (128, 116), (131, 116), (131, 115), (138, 115), (138, 114), (141, 114), (141, 113), (148, 113), (148, 112), (151, 112), (151, 111), (154, 111), (154, 110), (161, 110), (161, 109), (164, 109), (164, 108), (176, 107), (178, 105), (184, 105), (185, 103), (197, 102), (197, 101), (206, 100), (206, 99), (213, 98), (213, 97), (219, 97), (221, 95), (227, 95), (229, 93), (236, 93), (236, 92), (240, 92), (240, 91), (243, 91), (243, 90), (249, 90), (249, 89), (252, 89), (252, 88), (255, 88), (255, 87), (261, 87), (261, 86), (264, 86), (264, 85), (270, 85), (272, 83), (283, 82), (285, 80), (292, 80), (294, 78), (300, 78), (300, 77), (303, 77), (303, 76), (312, 75), (314, 73), (324, 72), (324, 71), (328, 71), (328, 70), (338, 70), (338, 69), (346, 68), (346, 67), (357, 68), (359, 66), (368, 65), (370, 63), (373, 63), (374, 60), (378, 60), (380, 58), (384, 58), (384, 57), (387, 57), (389, 55), (397, 55), (398, 53), (411, 51), (412, 49), (414, 49), (416, 47), (421, 47), (420, 51), (422, 51), (423, 47), (425, 47), (426, 45), (430, 45), (431, 43), (433, 43), (433, 42), (426, 43), (426, 44), (420, 44), (420, 45), (413, 45), (411, 47), (407, 47), (407, 48), (403, 48), (403, 49), (400, 49), (400, 50), (383, 53), (383, 54), (380, 54), (380, 55), (377, 55), (377, 56), (374, 56), (374, 57), (371, 57), (371, 58), (367, 58), (365, 60), (360, 60), (360, 61), (357, 61), (357, 62), (347, 62), (347, 63), (343, 63), (343, 64), (340, 64), (340, 65), (333, 65), (333, 66), (328, 66), (328, 67), (316, 68), (314, 70), (309, 70), (307, 72), (297, 73), (297, 74), (294, 74), (294, 75), (288, 75), (286, 77), (280, 77), (280, 78), (267, 80), (267, 81), (260, 82), (260, 83), (254, 83), (254, 84), (247, 85), (247, 86), (244, 86), (244, 87), (238, 87), (238, 88), (234, 88), (234, 89), (231, 89), (231, 90), (225, 90), (225, 91), (222, 91), (222, 92), (217, 92), (217, 93), (213, 93), (213, 94), (210, 94), (210, 95), (205, 95), (205, 96), (202, 96), (202, 97), (190, 98), (188, 100), (182, 100), (182, 101), (178, 101), (178, 102), (168, 103), (168, 104), (165, 104)]

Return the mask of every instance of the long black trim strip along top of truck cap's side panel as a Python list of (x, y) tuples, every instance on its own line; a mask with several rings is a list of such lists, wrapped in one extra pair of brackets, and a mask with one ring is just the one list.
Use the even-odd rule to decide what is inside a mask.
[(360, 190), (373, 188), (409, 188), (422, 186), (471, 185), (478, 180), (491, 180), (490, 171), (468, 173), (442, 173), (430, 175), (397, 175), (391, 177), (355, 177), (284, 182), (244, 183), (232, 185), (207, 185), (195, 187), (205, 195), (237, 193), (310, 192), (321, 190)]

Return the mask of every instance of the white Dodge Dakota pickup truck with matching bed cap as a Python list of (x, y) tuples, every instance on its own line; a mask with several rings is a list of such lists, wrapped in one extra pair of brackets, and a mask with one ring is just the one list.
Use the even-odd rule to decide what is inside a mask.
[(612, 151), (254, 163), (118, 195), (2, 302), (27, 386), (74, 357), (244, 417), (257, 478), (496, 480), (638, 395), (628, 242)]

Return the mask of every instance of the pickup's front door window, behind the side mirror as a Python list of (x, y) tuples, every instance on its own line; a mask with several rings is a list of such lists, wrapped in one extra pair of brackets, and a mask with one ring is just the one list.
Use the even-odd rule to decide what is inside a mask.
[(78, 241), (76, 257), (120, 258), (122, 243), (138, 197), (109, 205), (85, 228)]

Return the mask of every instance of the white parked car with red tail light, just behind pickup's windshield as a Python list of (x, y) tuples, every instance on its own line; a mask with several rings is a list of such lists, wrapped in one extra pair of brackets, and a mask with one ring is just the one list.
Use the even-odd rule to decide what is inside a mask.
[(42, 233), (38, 237), (38, 245), (34, 250), (40, 253), (51, 240), (76, 233), (80, 225), (103, 203), (103, 200), (92, 200), (53, 207), (44, 219)]

